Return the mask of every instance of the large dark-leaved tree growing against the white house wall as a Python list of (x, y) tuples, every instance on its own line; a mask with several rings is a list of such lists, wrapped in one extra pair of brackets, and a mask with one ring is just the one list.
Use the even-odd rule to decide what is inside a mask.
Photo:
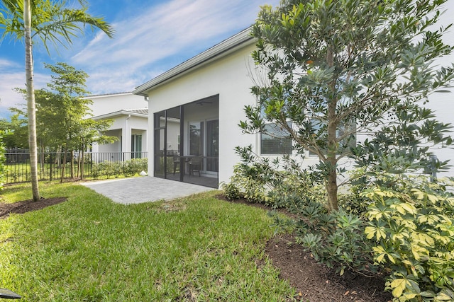
[[(431, 92), (453, 79), (453, 66), (434, 64), (453, 51), (441, 39), (450, 26), (436, 27), (444, 2), (284, 0), (275, 10), (263, 6), (252, 30), (258, 79), (251, 90), (258, 105), (245, 107), (240, 127), (267, 133), (267, 123), (274, 123), (279, 131), (270, 135), (292, 138), (297, 153), (316, 154), (330, 210), (338, 208), (342, 158), (372, 165), (404, 154), (412, 162), (403, 169), (426, 165), (428, 146), (452, 142), (445, 136), (449, 125), (423, 108)], [(372, 135), (357, 144), (358, 132)]]

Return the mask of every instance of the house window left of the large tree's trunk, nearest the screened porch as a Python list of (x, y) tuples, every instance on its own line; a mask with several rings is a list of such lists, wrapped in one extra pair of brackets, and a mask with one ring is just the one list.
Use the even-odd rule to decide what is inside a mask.
[(279, 125), (265, 125), (265, 131), (260, 133), (261, 155), (284, 155), (292, 153), (292, 138), (287, 130)]

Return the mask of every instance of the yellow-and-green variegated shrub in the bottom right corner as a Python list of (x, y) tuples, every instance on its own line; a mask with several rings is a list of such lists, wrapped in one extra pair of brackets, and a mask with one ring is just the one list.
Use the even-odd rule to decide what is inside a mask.
[(397, 301), (454, 301), (452, 180), (392, 176), (393, 187), (362, 193), (372, 201), (365, 228), (375, 262), (391, 272), (387, 289)]

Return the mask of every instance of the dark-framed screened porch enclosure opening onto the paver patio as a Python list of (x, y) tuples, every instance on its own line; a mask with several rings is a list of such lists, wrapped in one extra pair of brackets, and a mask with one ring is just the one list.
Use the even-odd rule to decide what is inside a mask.
[(154, 175), (218, 187), (219, 97), (154, 114)]

